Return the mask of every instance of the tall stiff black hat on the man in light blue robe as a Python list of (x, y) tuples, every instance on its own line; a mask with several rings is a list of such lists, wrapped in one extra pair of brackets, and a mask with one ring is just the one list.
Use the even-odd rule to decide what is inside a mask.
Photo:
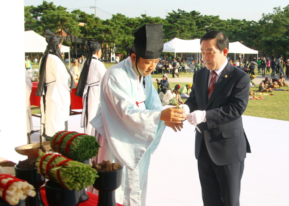
[(164, 48), (162, 24), (145, 24), (134, 31), (133, 52), (144, 59), (157, 59)]

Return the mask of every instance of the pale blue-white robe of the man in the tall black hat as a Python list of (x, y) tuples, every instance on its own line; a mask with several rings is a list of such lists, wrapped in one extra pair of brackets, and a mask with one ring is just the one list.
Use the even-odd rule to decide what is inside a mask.
[(123, 167), (116, 201), (125, 206), (145, 206), (151, 154), (165, 128), (152, 78), (145, 78), (145, 88), (142, 81), (130, 57), (110, 67), (101, 82), (101, 107), (90, 122), (100, 134), (98, 162), (110, 160)]

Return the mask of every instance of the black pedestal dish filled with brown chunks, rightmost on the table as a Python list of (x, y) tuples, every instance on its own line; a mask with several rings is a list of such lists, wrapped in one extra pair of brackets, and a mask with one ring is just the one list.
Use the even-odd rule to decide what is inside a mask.
[(97, 206), (117, 206), (116, 203), (116, 189), (121, 184), (122, 167), (116, 171), (100, 172), (99, 177), (95, 178), (93, 187), (99, 190)]

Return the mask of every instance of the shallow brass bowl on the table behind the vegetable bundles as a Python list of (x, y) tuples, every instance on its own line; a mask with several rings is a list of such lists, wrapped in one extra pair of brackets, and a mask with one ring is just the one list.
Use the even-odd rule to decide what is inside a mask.
[[(43, 146), (46, 148), (46, 151), (51, 149), (50, 141), (43, 142)], [(40, 149), (40, 143), (25, 144), (22, 146), (15, 147), (15, 151), (20, 155), (25, 155), (28, 157), (38, 158), (39, 153), (42, 152)]]

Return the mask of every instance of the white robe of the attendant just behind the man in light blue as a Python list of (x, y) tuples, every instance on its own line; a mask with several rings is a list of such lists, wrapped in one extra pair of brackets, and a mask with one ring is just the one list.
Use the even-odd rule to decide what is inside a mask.
[[(96, 55), (92, 55), (92, 57), (97, 58)], [(84, 63), (82, 64), (83, 67)], [(87, 98), (87, 107), (85, 105), (85, 101), (83, 102), (83, 111), (82, 111), (82, 125), (81, 127), (85, 127), (85, 134), (95, 136), (95, 129), (89, 123), (96, 115), (98, 106), (100, 104), (100, 91), (99, 84), (101, 79), (106, 72), (106, 68), (104, 64), (97, 59), (91, 59), (87, 80), (85, 85), (85, 90), (83, 94), (83, 99)], [(87, 90), (89, 88), (89, 92), (87, 94)], [(86, 97), (86, 98), (85, 98)], [(85, 111), (87, 110), (88, 115), (85, 117)], [(86, 125), (87, 118), (87, 125)]]

